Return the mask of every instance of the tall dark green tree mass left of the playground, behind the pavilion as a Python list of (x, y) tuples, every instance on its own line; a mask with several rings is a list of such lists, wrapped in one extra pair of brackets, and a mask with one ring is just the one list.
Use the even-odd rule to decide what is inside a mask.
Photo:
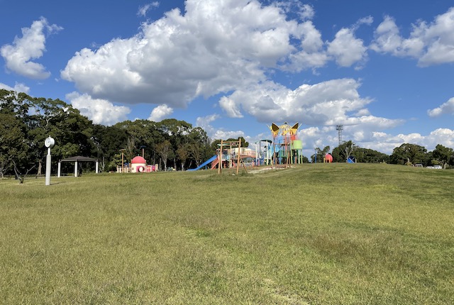
[[(40, 174), (48, 136), (56, 142), (52, 160), (74, 155), (95, 157), (101, 171), (116, 170), (121, 165), (121, 151), (125, 162), (142, 153), (149, 164), (163, 161), (158, 153), (163, 143), (170, 143), (165, 150), (164, 168), (189, 168), (211, 157), (206, 132), (185, 121), (170, 118), (159, 123), (136, 120), (114, 126), (96, 125), (59, 99), (0, 90), (0, 177), (14, 174), (15, 168), (27, 172), (33, 166)], [(62, 172), (70, 170), (68, 166), (62, 164)]]

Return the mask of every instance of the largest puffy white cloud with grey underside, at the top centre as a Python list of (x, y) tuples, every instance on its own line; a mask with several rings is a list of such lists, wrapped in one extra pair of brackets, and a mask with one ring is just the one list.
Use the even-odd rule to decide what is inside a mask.
[[(61, 77), (96, 99), (184, 108), (199, 96), (265, 82), (273, 69), (314, 69), (333, 58), (341, 66), (365, 60), (354, 29), (370, 18), (324, 43), (310, 20), (311, 6), (290, 1), (297, 19), (289, 18), (283, 7), (285, 2), (187, 0), (184, 13), (167, 11), (163, 18), (143, 23), (131, 38), (79, 50)], [(231, 109), (233, 115), (240, 116), (240, 109)]]

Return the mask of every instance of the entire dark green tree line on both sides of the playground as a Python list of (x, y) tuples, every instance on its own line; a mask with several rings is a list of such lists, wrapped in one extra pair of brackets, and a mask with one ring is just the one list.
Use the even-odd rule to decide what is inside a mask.
[[(148, 120), (123, 121), (114, 126), (94, 124), (79, 110), (60, 99), (45, 99), (0, 89), (0, 177), (15, 174), (41, 174), (47, 149), (44, 140), (52, 136), (52, 160), (82, 155), (99, 160), (100, 170), (115, 171), (124, 160), (142, 155), (148, 164), (158, 164), (164, 170), (173, 167), (186, 170), (196, 167), (216, 153), (221, 140), (211, 140), (200, 127), (168, 118), (160, 122)], [(243, 137), (242, 147), (249, 143)], [(323, 160), (330, 147), (316, 148), (312, 162)], [(357, 162), (387, 162), (392, 164), (454, 166), (452, 148), (437, 145), (432, 152), (414, 144), (394, 148), (392, 155), (359, 148), (347, 141), (334, 148), (334, 162), (345, 162), (354, 155)], [(305, 157), (304, 162), (309, 162)], [(56, 162), (52, 162), (56, 167)], [(94, 167), (83, 164), (84, 167)], [(55, 172), (55, 168), (52, 172)], [(72, 165), (62, 163), (62, 172), (71, 172)]]

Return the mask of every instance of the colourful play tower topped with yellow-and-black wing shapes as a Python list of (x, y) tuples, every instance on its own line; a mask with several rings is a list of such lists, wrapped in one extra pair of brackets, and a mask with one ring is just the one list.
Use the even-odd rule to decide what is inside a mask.
[(299, 123), (289, 126), (287, 122), (281, 126), (272, 123), (272, 165), (288, 167), (303, 162), (303, 144), (297, 138)]

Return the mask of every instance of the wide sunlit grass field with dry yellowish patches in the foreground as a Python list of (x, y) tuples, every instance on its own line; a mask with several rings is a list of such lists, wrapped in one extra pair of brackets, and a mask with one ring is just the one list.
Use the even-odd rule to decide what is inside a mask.
[(0, 304), (453, 304), (454, 171), (0, 180)]

